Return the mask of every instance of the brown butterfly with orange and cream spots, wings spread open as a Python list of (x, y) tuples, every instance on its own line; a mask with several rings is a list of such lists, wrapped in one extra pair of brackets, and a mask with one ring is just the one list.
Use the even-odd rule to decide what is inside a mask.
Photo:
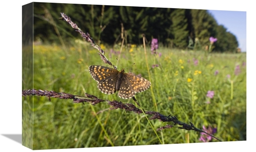
[(114, 68), (91, 65), (89, 67), (93, 79), (98, 82), (98, 88), (102, 93), (113, 94), (124, 99), (131, 98), (137, 92), (142, 92), (151, 86), (150, 81), (133, 73), (124, 73), (124, 69), (118, 71)]

